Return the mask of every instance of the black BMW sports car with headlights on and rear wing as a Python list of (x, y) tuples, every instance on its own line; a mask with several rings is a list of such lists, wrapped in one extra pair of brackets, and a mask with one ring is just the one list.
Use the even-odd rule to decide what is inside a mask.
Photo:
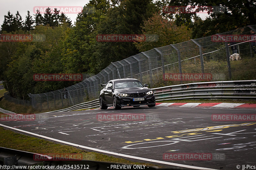
[(110, 80), (100, 91), (100, 109), (113, 106), (117, 110), (124, 106), (139, 107), (140, 105), (154, 107), (156, 106), (156, 99), (154, 92), (148, 88), (148, 85), (143, 85), (137, 79)]

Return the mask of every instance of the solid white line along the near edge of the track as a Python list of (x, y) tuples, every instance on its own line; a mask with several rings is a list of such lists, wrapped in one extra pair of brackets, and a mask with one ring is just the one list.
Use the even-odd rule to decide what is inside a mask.
[(20, 132), (23, 132), (23, 133), (28, 133), (30, 135), (34, 135), (34, 136), (37, 136), (37, 137), (42, 137), (42, 138), (49, 139), (49, 140), (52, 140), (52, 141), (60, 142), (60, 143), (63, 143), (63, 144), (68, 144), (68, 145), (72, 145), (72, 146), (76, 146), (76, 147), (80, 147), (80, 148), (84, 148), (84, 149), (89, 149), (89, 150), (96, 151), (96, 152), (102, 152), (102, 153), (107, 153), (107, 154), (111, 154), (111, 155), (122, 156), (122, 157), (132, 158), (132, 159), (139, 159), (139, 160), (155, 162), (155, 163), (160, 163), (160, 164), (166, 164), (166, 165), (172, 165), (172, 166), (180, 166), (180, 167), (194, 168), (194, 169), (200, 169), (200, 170), (201, 169), (202, 170), (217, 170), (217, 169), (204, 168), (204, 167), (198, 167), (198, 166), (190, 166), (190, 165), (183, 165), (183, 164), (176, 164), (176, 163), (172, 163), (172, 162), (165, 162), (165, 161), (161, 161), (161, 160), (141, 158), (141, 157), (126, 155), (126, 154), (122, 154), (122, 153), (105, 151), (105, 150), (101, 150), (101, 149), (96, 149), (96, 148), (91, 148), (91, 147), (88, 147), (88, 146), (83, 146), (83, 145), (79, 145), (79, 144), (66, 142), (66, 141), (55, 139), (55, 138), (52, 138), (52, 137), (38, 135), (36, 133), (28, 132), (26, 130), (21, 130), (21, 129), (13, 128), (13, 127), (10, 127), (10, 126), (6, 126), (4, 124), (0, 124), (0, 126), (3, 126), (5, 128), (9, 128), (9, 129), (13, 129), (13, 130), (17, 130), (17, 131), (20, 131)]

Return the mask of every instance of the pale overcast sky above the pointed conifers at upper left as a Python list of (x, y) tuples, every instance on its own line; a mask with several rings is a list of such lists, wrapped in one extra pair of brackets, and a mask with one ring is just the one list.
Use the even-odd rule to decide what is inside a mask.
[[(7, 15), (8, 11), (10, 11), (13, 15), (16, 14), (17, 11), (20, 12), (22, 20), (25, 20), (25, 16), (27, 15), (27, 11), (30, 12), (30, 15), (33, 16), (34, 19), (34, 7), (38, 6), (82, 6), (86, 5), (89, 0), (0, 0), (0, 25), (3, 24), (4, 15)], [(77, 14), (66, 14), (68, 18), (74, 21), (76, 20)]]

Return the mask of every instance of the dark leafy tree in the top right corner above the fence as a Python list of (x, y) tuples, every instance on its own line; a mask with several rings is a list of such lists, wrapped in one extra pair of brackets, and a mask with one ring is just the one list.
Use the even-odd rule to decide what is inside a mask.
[[(221, 7), (222, 11), (208, 13), (206, 19), (201, 19), (194, 13), (162, 13), (164, 17), (176, 19), (179, 26), (185, 24), (193, 28), (192, 38), (210, 36), (216, 33), (222, 33), (247, 25), (256, 24), (256, 3), (255, 0), (160, 0), (156, 3), (159, 9), (164, 6), (216, 6)], [(206, 12), (206, 11), (205, 11)], [(194, 20), (194, 22), (192, 22)]]

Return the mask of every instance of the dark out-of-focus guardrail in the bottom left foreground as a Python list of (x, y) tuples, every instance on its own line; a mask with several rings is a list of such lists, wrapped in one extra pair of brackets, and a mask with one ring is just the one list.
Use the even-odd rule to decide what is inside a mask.
[[(8, 169), (15, 169), (18, 168), (18, 166), (23, 166), (22, 168), (19, 169), (29, 169), (29, 170), (36, 170), (36, 169), (45, 169), (44, 167), (49, 167), (49, 166), (55, 166), (54, 169), (56, 169), (57, 166), (62, 166), (64, 165), (67, 166), (76, 166), (79, 165), (79, 169), (90, 169), (90, 170), (109, 170), (110, 166), (112, 165), (131, 165), (131, 170), (138, 169), (136, 167), (133, 167), (133, 164), (124, 164), (124, 163), (115, 163), (115, 162), (103, 162), (103, 161), (95, 161), (95, 160), (56, 160), (52, 161), (51, 157), (49, 160), (46, 161), (38, 161), (34, 160), (34, 155), (41, 155), (38, 153), (32, 153), (32, 152), (25, 152), (25, 151), (20, 151), (20, 150), (15, 150), (15, 149), (9, 149), (9, 148), (4, 148), (0, 147), (0, 168), (2, 170), (8, 170)], [(43, 158), (45, 158), (45, 155), (41, 155)], [(85, 165), (85, 166), (82, 166)], [(29, 167), (35, 167), (35, 168), (24, 168), (24, 166), (29, 166)], [(67, 167), (65, 166), (65, 167)], [(38, 168), (42, 167), (42, 168)], [(85, 168), (84, 168), (85, 167)], [(48, 168), (46, 168), (48, 169)], [(62, 168), (59, 168), (62, 169)], [(64, 169), (64, 168), (63, 168)], [(72, 169), (72, 168), (66, 168), (66, 169)], [(159, 168), (156, 166), (147, 166), (147, 170), (156, 170), (156, 169), (161, 169), (161, 170), (172, 170), (172, 169), (191, 169), (191, 168), (181, 168), (177, 166), (173, 166), (173, 168)]]

